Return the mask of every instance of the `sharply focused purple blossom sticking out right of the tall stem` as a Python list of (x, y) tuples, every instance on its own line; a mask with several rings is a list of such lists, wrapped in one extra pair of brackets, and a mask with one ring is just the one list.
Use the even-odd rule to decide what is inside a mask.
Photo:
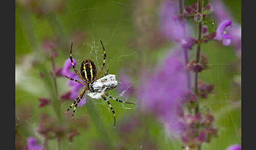
[(214, 37), (215, 40), (222, 41), (223, 45), (229, 46), (231, 43), (231, 36), (227, 34), (225, 29), (231, 26), (230, 20), (224, 20), (216, 30), (216, 36)]

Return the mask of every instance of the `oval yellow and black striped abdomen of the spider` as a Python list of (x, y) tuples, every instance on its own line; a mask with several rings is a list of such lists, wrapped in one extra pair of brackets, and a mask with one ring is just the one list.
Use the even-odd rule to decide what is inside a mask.
[(81, 75), (89, 83), (92, 83), (96, 78), (97, 70), (92, 60), (84, 60), (81, 64)]

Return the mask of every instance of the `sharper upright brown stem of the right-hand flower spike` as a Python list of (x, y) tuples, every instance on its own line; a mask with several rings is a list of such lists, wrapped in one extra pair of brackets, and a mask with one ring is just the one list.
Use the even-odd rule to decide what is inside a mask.
[[(198, 0), (198, 13), (202, 13), (202, 0)], [(196, 56), (195, 56), (195, 62), (199, 63), (200, 61), (200, 52), (201, 52), (201, 39), (202, 39), (202, 22), (198, 25), (198, 44), (196, 47)], [(198, 95), (198, 72), (195, 72), (194, 77), (194, 89), (195, 94)], [(195, 106), (195, 114), (199, 112), (199, 103), (196, 103)]]

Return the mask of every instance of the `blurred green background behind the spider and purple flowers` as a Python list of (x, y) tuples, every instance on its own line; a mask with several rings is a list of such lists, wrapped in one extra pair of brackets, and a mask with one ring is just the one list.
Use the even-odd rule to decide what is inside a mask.
[[(54, 41), (57, 67), (63, 67), (73, 41), (73, 58), (77, 66), (88, 58), (95, 62), (99, 70), (103, 59), (102, 40), (107, 53), (104, 70), (109, 69), (111, 74), (117, 74), (117, 80), (121, 70), (131, 70), (128, 75), (136, 89), (136, 71), (145, 63), (161, 62), (166, 53), (172, 50), (173, 43), (154, 39), (159, 30), (157, 16), (161, 2), (16, 0), (15, 107), (18, 142), (26, 144), (26, 138), (33, 136), (42, 143), (42, 136), (36, 133), (41, 114), (46, 113), (57, 119), (52, 105), (38, 109), (38, 98), (52, 100), (52, 89), (39, 76), (44, 69), (48, 73), (52, 71), (50, 55), (42, 47), (44, 41)], [(195, 2), (185, 1), (185, 4)], [(241, 1), (223, 3), (241, 24)], [(218, 27), (212, 16), (206, 18), (204, 24), (210, 30)], [(195, 27), (192, 24), (191, 28)], [(194, 52), (195, 47), (190, 51), (191, 58), (194, 58)], [(216, 42), (203, 45), (202, 52), (208, 57), (210, 68), (200, 73), (199, 79), (214, 83), (215, 88), (214, 93), (202, 100), (201, 107), (210, 108), (219, 129), (219, 137), (213, 138), (209, 144), (203, 144), (202, 149), (225, 149), (231, 144), (241, 143), (241, 85), (239, 88), (234, 84), (234, 79), (241, 80), (241, 72), (237, 69), (241, 60), (232, 47)], [(70, 89), (67, 79), (56, 79), (59, 95)], [(109, 93), (120, 94), (116, 90)], [(136, 102), (137, 99), (132, 96), (129, 101)], [(71, 101), (61, 103), (62, 115), (70, 104)], [(181, 149), (181, 143), (168, 137), (162, 124), (154, 117), (140, 114), (136, 106), (115, 101), (112, 105), (117, 115), (117, 130), (113, 129), (113, 116), (108, 106), (101, 100), (90, 100), (75, 114), (76, 118), (86, 117), (87, 127), (78, 128), (80, 135), (74, 136), (73, 142), (63, 140), (62, 149)], [(119, 126), (133, 117), (139, 117), (142, 123), (136, 130), (123, 133)], [(102, 144), (105, 142), (109, 145)], [(48, 147), (57, 149), (57, 140), (50, 140)]]

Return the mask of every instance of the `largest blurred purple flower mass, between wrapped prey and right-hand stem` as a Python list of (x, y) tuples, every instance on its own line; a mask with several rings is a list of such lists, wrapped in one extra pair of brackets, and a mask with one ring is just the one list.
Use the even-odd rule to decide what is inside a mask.
[(186, 87), (185, 66), (181, 50), (172, 52), (149, 79), (139, 87), (139, 106), (154, 113), (164, 123), (170, 134), (180, 135), (185, 129), (183, 121), (183, 97)]

